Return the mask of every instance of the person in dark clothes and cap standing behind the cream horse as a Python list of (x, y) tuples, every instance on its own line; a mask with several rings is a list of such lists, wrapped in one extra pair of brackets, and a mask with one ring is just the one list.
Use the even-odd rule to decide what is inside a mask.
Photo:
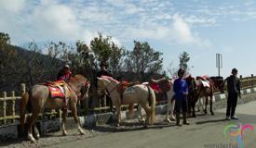
[[(97, 78), (100, 78), (101, 76), (112, 77), (111, 72), (108, 72), (106, 70), (106, 64), (104, 62), (101, 62), (100, 68), (101, 68), (101, 70), (97, 72), (96, 79), (95, 79), (95, 87), (96, 87), (96, 89), (98, 89), (98, 80), (97, 80)], [(107, 90), (105, 90), (105, 94), (106, 94), (106, 104), (109, 105), (110, 106), (110, 110), (113, 111), (113, 103), (111, 101), (110, 96), (108, 95)], [(104, 104), (103, 97), (101, 97), (101, 105), (104, 106), (103, 104)]]

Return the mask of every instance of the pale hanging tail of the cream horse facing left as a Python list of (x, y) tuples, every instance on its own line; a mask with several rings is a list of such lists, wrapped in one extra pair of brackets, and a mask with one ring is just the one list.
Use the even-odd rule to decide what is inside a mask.
[(151, 106), (150, 124), (153, 125), (155, 121), (155, 93), (149, 86), (147, 86), (147, 88), (149, 92), (148, 101), (149, 105)]

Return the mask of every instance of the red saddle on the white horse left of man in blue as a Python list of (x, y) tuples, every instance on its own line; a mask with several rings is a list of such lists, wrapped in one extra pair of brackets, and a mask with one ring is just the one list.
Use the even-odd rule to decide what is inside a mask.
[(161, 78), (159, 80), (152, 79), (149, 81), (149, 84), (156, 93), (159, 93), (159, 92), (167, 93), (171, 87), (171, 82), (166, 78)]

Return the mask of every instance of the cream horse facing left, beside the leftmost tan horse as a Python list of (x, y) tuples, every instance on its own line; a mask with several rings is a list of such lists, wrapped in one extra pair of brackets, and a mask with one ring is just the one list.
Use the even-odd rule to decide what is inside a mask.
[(116, 111), (116, 127), (120, 126), (121, 120), (121, 105), (129, 105), (129, 113), (133, 112), (133, 105), (139, 104), (146, 112), (146, 121), (144, 127), (149, 124), (153, 125), (155, 121), (155, 93), (147, 85), (134, 84), (120, 92), (122, 88), (122, 82), (113, 79), (108, 76), (101, 76), (98, 79), (98, 89), (106, 89), (111, 97), (113, 105), (115, 105)]

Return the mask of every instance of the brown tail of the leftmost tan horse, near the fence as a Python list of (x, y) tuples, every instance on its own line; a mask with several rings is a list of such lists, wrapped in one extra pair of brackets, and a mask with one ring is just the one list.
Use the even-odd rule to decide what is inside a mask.
[(20, 100), (20, 129), (24, 133), (24, 124), (26, 120), (26, 108), (29, 101), (29, 93), (23, 93)]

